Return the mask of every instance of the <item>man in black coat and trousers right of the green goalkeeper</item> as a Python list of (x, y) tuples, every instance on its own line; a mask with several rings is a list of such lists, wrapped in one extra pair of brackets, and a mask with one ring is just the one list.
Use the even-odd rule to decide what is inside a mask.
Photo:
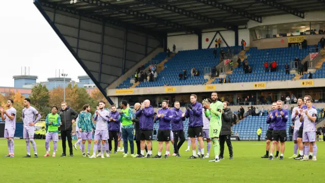
[(223, 102), (223, 111), (222, 111), (221, 120), (222, 120), (222, 126), (221, 126), (221, 132), (219, 136), (219, 141), (220, 141), (219, 159), (223, 159), (223, 150), (224, 150), (224, 141), (225, 141), (229, 149), (229, 158), (232, 160), (233, 146), (230, 137), (231, 137), (231, 127), (233, 122), (233, 111), (229, 108), (229, 103), (226, 101)]

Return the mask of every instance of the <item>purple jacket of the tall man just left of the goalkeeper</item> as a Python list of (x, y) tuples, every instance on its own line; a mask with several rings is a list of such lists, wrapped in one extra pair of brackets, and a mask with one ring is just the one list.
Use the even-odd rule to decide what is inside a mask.
[(191, 104), (193, 109), (185, 111), (185, 117), (189, 118), (188, 127), (203, 127), (202, 104)]

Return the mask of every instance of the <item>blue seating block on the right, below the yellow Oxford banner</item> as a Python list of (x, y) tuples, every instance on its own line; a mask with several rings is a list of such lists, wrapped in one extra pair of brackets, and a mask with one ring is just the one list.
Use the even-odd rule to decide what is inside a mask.
[[(253, 47), (246, 54), (248, 57), (245, 60), (248, 61), (248, 65), (252, 68), (252, 73), (245, 74), (242, 66), (235, 68), (233, 74), (227, 76), (232, 83), (291, 80), (295, 77), (295, 74), (285, 74), (285, 64), (290, 66), (290, 62), (293, 62), (296, 57), (302, 60), (309, 54), (309, 47), (307, 49), (288, 47), (261, 50)], [(270, 64), (273, 60), (277, 63), (277, 71), (266, 72), (264, 63), (268, 62)]]

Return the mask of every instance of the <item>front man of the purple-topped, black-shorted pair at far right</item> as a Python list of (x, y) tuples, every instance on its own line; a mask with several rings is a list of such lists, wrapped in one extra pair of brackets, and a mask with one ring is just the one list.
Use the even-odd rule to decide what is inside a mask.
[(269, 160), (273, 160), (273, 152), (275, 149), (275, 145), (279, 144), (279, 140), (281, 142), (281, 155), (279, 160), (283, 160), (283, 153), (285, 149), (285, 141), (286, 138), (286, 121), (288, 120), (288, 111), (282, 109), (283, 102), (277, 101), (276, 102), (278, 109), (272, 111), (272, 118), (271, 123), (274, 123), (274, 128), (272, 132), (272, 147), (271, 147), (271, 154)]

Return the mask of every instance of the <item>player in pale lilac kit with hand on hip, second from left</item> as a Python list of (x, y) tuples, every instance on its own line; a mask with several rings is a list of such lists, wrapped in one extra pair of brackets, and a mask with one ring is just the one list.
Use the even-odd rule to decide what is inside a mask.
[[(35, 131), (35, 124), (37, 121), (41, 119), (41, 114), (34, 108), (30, 106), (30, 99), (26, 98), (24, 100), (24, 109), (22, 110), (22, 121), (24, 124), (23, 129), (23, 138), (26, 141), (26, 149), (27, 149), (27, 155), (23, 158), (30, 158), (30, 144), (32, 144), (32, 149), (34, 150), (35, 158), (38, 158), (37, 156), (37, 149), (36, 149), (36, 143), (34, 141), (34, 131)], [(37, 118), (35, 119), (35, 116)]]

